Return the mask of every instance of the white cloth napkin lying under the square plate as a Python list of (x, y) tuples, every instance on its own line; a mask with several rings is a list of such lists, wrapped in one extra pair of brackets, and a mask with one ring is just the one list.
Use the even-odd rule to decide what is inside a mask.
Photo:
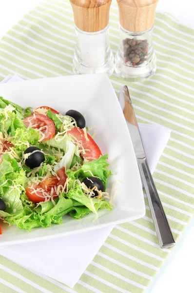
[[(2, 83), (20, 80), (22, 79), (17, 75), (9, 75)], [(170, 138), (170, 129), (148, 124), (139, 124), (139, 129), (148, 165), (153, 173)], [(0, 254), (29, 270), (45, 274), (73, 288), (112, 229), (113, 227), (108, 227), (77, 235), (1, 247)]]

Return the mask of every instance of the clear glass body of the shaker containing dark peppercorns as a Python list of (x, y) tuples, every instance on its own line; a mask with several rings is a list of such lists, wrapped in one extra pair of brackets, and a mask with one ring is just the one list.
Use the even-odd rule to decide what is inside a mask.
[(137, 33), (120, 26), (119, 47), (115, 58), (115, 70), (119, 77), (136, 82), (155, 73), (152, 34), (153, 27)]

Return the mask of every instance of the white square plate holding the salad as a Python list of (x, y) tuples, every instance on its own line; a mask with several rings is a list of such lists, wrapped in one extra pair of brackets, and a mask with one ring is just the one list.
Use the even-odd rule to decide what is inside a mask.
[(95, 141), (103, 154), (109, 154), (113, 176), (110, 176), (108, 188), (111, 189), (115, 180), (122, 182), (113, 210), (100, 210), (95, 222), (92, 221), (95, 216), (91, 213), (81, 220), (64, 216), (62, 225), (52, 225), (48, 229), (35, 228), (31, 232), (2, 224), (0, 245), (76, 234), (144, 216), (143, 191), (133, 145), (114, 88), (107, 76), (66, 76), (1, 84), (0, 96), (23, 107), (48, 105), (61, 113), (76, 109), (86, 114), (87, 126), (96, 126)]

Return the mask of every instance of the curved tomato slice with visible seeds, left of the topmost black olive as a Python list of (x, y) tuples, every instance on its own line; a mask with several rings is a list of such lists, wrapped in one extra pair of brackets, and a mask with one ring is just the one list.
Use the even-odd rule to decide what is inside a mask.
[(39, 130), (44, 136), (44, 138), (41, 140), (42, 142), (55, 136), (55, 124), (53, 120), (43, 114), (34, 114), (28, 116), (23, 119), (23, 124), (26, 127), (30, 126)]

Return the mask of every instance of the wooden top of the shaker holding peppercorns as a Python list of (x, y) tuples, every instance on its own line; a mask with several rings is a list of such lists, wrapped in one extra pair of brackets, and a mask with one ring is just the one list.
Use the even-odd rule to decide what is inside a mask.
[(130, 32), (144, 32), (154, 24), (158, 0), (117, 0), (120, 25)]

